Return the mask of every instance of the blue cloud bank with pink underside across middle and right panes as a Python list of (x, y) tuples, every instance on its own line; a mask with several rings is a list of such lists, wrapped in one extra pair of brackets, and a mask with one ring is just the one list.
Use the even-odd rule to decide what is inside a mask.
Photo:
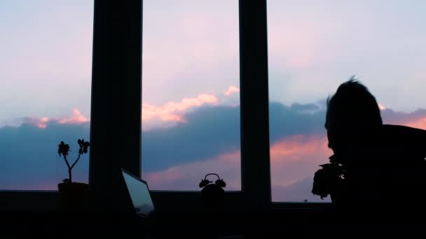
[[(187, 113), (186, 124), (144, 131), (144, 178), (153, 189), (198, 190), (203, 175), (220, 172), (228, 184), (240, 187), (239, 115), (239, 107), (204, 106)], [(287, 187), (308, 177), (327, 161), (331, 154), (324, 136), (324, 116), (317, 103), (290, 107), (270, 103), (275, 186)]]

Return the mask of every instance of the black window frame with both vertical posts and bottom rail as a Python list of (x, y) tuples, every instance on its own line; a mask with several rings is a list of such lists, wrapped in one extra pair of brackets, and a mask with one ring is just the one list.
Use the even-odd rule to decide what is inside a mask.
[[(239, 0), (242, 190), (226, 191), (226, 200), (234, 210), (246, 206), (323, 210), (330, 203), (272, 202), (266, 3)], [(120, 169), (139, 177), (142, 173), (143, 0), (94, 0), (94, 4), (89, 183), (99, 207), (122, 210), (123, 205), (117, 203), (125, 195)], [(120, 108), (111, 115), (114, 105)], [(120, 129), (115, 125), (121, 125)], [(200, 195), (196, 191), (153, 191), (152, 196), (158, 207), (172, 210), (194, 208)], [(111, 208), (111, 203), (118, 206)], [(0, 210), (58, 210), (59, 194), (0, 191), (0, 205)]]

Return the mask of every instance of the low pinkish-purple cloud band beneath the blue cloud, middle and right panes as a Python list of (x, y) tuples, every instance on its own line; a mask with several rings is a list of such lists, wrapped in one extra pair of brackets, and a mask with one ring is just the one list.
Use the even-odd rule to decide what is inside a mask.
[[(291, 136), (270, 147), (272, 184), (287, 186), (313, 176), (319, 164), (331, 155), (325, 136)], [(239, 151), (227, 152), (204, 161), (196, 161), (146, 173), (143, 178), (152, 189), (200, 190), (198, 183), (207, 173), (218, 173), (228, 184), (228, 190), (241, 188), (241, 156)]]

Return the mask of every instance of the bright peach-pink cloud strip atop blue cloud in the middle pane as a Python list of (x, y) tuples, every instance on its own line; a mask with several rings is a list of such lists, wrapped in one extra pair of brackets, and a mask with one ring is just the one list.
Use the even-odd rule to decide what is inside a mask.
[(153, 106), (150, 104), (142, 105), (142, 122), (150, 119), (159, 118), (165, 122), (186, 122), (184, 111), (195, 106), (204, 104), (216, 104), (219, 102), (216, 96), (211, 94), (200, 94), (197, 97), (185, 98), (180, 102), (170, 101), (163, 106)]

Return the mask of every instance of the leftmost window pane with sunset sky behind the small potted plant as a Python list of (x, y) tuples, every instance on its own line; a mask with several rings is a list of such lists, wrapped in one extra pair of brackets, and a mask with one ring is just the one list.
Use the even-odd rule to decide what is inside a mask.
[[(0, 189), (57, 189), (89, 140), (93, 1), (0, 3)], [(88, 182), (88, 154), (73, 181)]]

